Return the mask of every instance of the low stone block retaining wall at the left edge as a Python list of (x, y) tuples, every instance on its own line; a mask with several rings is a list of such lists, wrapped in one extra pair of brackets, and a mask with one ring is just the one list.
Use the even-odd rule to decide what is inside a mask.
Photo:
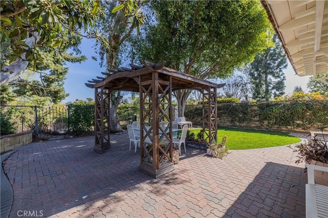
[(2, 136), (0, 138), (1, 154), (32, 142), (33, 130)]

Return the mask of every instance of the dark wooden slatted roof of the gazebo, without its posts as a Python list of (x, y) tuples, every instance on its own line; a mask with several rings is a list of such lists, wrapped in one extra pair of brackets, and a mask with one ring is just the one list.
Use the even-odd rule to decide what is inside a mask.
[[(115, 70), (110, 70), (111, 73), (101, 73), (107, 77), (97, 76), (97, 79), (88, 80), (88, 82), (91, 83), (85, 84), (89, 88), (103, 87), (109, 89), (110, 92), (113, 90), (139, 92), (139, 76), (143, 76), (143, 78), (149, 77), (149, 80), (151, 80), (152, 74), (158, 72), (158, 80), (163, 83), (169, 82), (169, 76), (172, 76), (172, 91), (181, 89), (202, 90), (209, 87), (222, 88), (224, 86), (224, 83), (217, 84), (164, 67), (165, 62), (158, 62), (155, 64), (148, 61), (141, 61), (141, 63), (144, 64), (144, 66), (130, 64), (131, 69), (116, 68)], [(149, 85), (151, 85), (151, 83)]]

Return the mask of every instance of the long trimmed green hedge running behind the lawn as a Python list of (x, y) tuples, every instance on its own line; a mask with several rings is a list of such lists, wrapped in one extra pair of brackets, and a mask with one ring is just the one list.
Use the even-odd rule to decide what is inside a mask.
[[(265, 129), (317, 129), (328, 127), (328, 101), (224, 103), (217, 105), (219, 126)], [(185, 117), (201, 123), (201, 105), (187, 105)]]

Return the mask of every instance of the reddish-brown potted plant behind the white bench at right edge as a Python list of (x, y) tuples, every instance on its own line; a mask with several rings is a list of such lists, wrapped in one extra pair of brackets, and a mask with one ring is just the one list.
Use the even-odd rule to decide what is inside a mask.
[[(291, 147), (292, 148), (292, 147)], [(328, 145), (326, 140), (316, 137), (296, 144), (294, 151), (298, 152), (298, 160), (295, 163), (305, 161), (309, 164), (328, 167)], [(328, 186), (328, 173), (315, 170), (315, 183)]]

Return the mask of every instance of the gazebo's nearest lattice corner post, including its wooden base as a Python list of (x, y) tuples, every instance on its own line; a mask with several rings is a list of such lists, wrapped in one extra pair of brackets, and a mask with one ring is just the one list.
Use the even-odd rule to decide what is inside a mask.
[[(172, 162), (172, 78), (162, 81), (158, 72), (152, 78), (139, 77), (140, 92), (140, 165), (141, 171), (157, 178), (174, 169)], [(149, 89), (144, 85), (151, 84)], [(147, 99), (150, 102), (147, 102)], [(146, 122), (147, 119), (150, 121)], [(161, 127), (161, 121), (169, 125)], [(147, 128), (147, 124), (151, 127)], [(167, 133), (169, 132), (169, 134)], [(149, 140), (150, 139), (151, 142)]]

